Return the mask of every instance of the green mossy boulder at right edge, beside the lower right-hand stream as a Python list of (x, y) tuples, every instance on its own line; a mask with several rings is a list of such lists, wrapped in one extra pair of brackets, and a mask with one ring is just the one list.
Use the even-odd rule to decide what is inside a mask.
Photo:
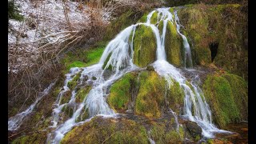
[(243, 78), (233, 74), (210, 74), (202, 88), (218, 126), (223, 128), (228, 123), (247, 120), (248, 88)]

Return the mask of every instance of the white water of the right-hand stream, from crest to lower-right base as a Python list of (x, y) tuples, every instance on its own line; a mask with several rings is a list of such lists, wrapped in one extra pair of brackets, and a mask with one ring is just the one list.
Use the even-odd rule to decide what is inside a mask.
[[(168, 17), (166, 18), (168, 21), (173, 21), (172, 14), (170, 13), (169, 9), (158, 9), (159, 13), (162, 13), (162, 18), (166, 18), (166, 15)], [(169, 14), (166, 14), (169, 13)], [(178, 34), (180, 34), (183, 38), (183, 44), (186, 51), (186, 57), (188, 58), (189, 66), (192, 66), (192, 60), (191, 60), (191, 53), (190, 53), (190, 46), (186, 40), (186, 37), (179, 32), (180, 26), (178, 25), (179, 19), (177, 11), (175, 11), (175, 23), (177, 27)], [(158, 14), (159, 15), (159, 14)], [(152, 16), (152, 14), (150, 14)], [(150, 22), (150, 16), (148, 17), (147, 22)], [(160, 19), (162, 20), (162, 19)], [(162, 35), (166, 34), (166, 21), (164, 22)], [(162, 37), (164, 38), (164, 37)], [(172, 66), (169, 62), (166, 61), (166, 54), (165, 54), (165, 46), (164, 46), (164, 39), (162, 39), (161, 42), (162, 46), (158, 46), (157, 50), (157, 61), (152, 64), (154, 66), (154, 70), (161, 75), (162, 77), (166, 78), (166, 81), (169, 83), (169, 86), (173, 84), (173, 80), (179, 83), (180, 86), (182, 86), (182, 89), (184, 90), (186, 97), (184, 100), (184, 113), (185, 117), (188, 118), (190, 121), (194, 121), (198, 123), (198, 126), (201, 126), (202, 128), (202, 134), (206, 138), (214, 137), (214, 132), (228, 132), (226, 130), (218, 130), (217, 127), (214, 126), (212, 123), (210, 108), (208, 104), (206, 103), (206, 100), (202, 94), (202, 90), (194, 83), (190, 83), (191, 86), (193, 86), (193, 90), (191, 90), (190, 86), (186, 85), (186, 78), (180, 74), (178, 69), (176, 69), (174, 66)], [(184, 62), (186, 64), (186, 61)], [(185, 65), (186, 66), (186, 65)], [(192, 114), (192, 106), (194, 106), (194, 115)]]

